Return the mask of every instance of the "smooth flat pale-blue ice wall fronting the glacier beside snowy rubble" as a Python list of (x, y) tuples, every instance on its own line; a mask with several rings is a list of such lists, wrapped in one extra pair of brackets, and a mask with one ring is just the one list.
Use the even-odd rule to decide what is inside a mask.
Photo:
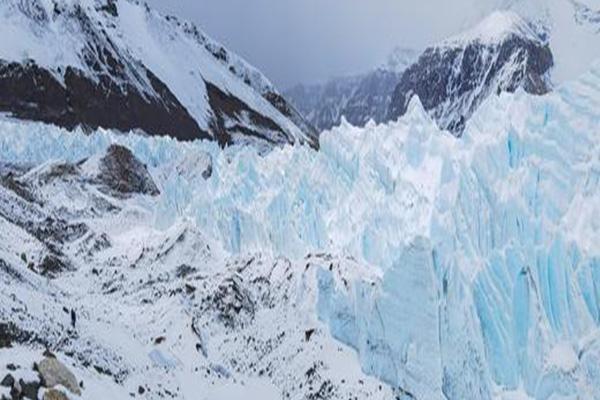
[[(404, 396), (441, 398), (438, 289), (429, 242), (416, 238), (398, 254), (378, 289), (359, 282), (340, 295), (330, 275), (320, 276), (319, 313), (334, 337), (358, 349), (364, 370)], [(343, 285), (337, 289), (346, 292)]]

